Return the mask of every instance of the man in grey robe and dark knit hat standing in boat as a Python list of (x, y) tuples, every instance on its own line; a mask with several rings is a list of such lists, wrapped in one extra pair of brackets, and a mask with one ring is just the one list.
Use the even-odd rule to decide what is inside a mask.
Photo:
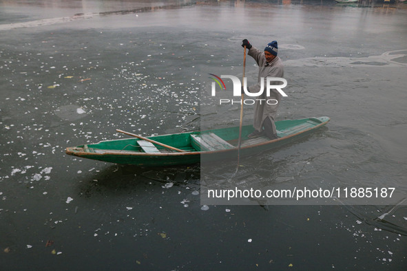
[[(253, 57), (259, 66), (258, 83), (247, 87), (249, 92), (256, 93), (260, 91), (260, 80), (262, 80), (262, 78), (264, 78), (264, 86), (267, 85), (267, 77), (283, 78), (284, 67), (281, 59), (277, 56), (277, 41), (271, 41), (271, 43), (267, 44), (264, 48), (264, 52), (252, 46), (247, 39), (242, 41), (242, 47), (244, 46), (249, 50), (249, 56)], [(274, 85), (278, 85), (278, 83)], [(248, 135), (249, 138), (257, 138), (260, 135), (266, 135), (271, 140), (278, 138), (274, 121), (282, 95), (276, 89), (271, 89), (269, 97), (266, 96), (266, 92), (267, 91), (262, 91), (262, 94), (257, 97), (258, 100), (255, 101), (253, 120), (254, 131)], [(244, 93), (243, 89), (242, 93)], [(260, 99), (263, 99), (262, 102)], [(267, 99), (275, 99), (277, 100), (277, 103), (275, 105), (269, 105), (267, 102), (264, 102), (264, 100)]]

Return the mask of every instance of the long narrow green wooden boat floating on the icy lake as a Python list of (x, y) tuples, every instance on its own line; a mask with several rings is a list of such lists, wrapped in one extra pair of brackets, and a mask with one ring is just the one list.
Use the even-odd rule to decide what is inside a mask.
[[(253, 155), (289, 144), (319, 129), (328, 121), (328, 117), (320, 117), (275, 122), (279, 135), (279, 138), (275, 140), (268, 140), (265, 137), (249, 139), (247, 135), (253, 131), (253, 127), (250, 125), (244, 126), (242, 128), (240, 156)], [(149, 139), (182, 149), (185, 151), (183, 153), (169, 151), (159, 146), (156, 146), (157, 152), (146, 153), (138, 146), (137, 138), (107, 140), (96, 144), (68, 147), (66, 153), (92, 160), (138, 166), (174, 166), (195, 164), (201, 161), (230, 160), (238, 155), (238, 148), (236, 147), (238, 131), (239, 127), (231, 127), (202, 131), (202, 133), (187, 132), (149, 137)], [(211, 138), (212, 142), (210, 143), (214, 143), (205, 147), (203, 141), (194, 141), (196, 137), (204, 139), (207, 133), (215, 134), (214, 136), (218, 138), (218, 142)]]

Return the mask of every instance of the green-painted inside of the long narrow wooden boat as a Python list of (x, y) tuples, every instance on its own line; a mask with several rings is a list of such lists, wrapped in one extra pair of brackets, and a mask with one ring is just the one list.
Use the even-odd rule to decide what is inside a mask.
[[(283, 137), (285, 135), (290, 135), (291, 133), (297, 133), (303, 129), (307, 129), (308, 127), (314, 127), (317, 124), (325, 122), (329, 118), (327, 117), (320, 117), (320, 118), (306, 118), (301, 120), (280, 120), (275, 122), (275, 126), (278, 130), (279, 137)], [(247, 125), (242, 127), (242, 140), (247, 140), (247, 135), (253, 131), (253, 127), (251, 125)], [(209, 131), (202, 131), (202, 132), (186, 132), (186, 133), (174, 133), (169, 135), (155, 135), (148, 137), (151, 140), (155, 140), (161, 142), (163, 144), (167, 144), (171, 147), (175, 147), (178, 149), (182, 149), (184, 151), (199, 151), (199, 146), (196, 147), (196, 144), (191, 144), (191, 134), (199, 134), (199, 133), (214, 133), (218, 135), (219, 138), (229, 142), (231, 145), (236, 146), (238, 134), (239, 134), (239, 127), (232, 127), (232, 128), (221, 128), (221, 129), (213, 129)], [(87, 144), (83, 145), (85, 151), (93, 152), (90, 149), (109, 149), (109, 150), (119, 150), (119, 151), (141, 151), (141, 147), (138, 146), (137, 138), (127, 138), (121, 140), (108, 140), (98, 142), (96, 144)], [(157, 149), (165, 150), (165, 147), (161, 147), (155, 145)]]

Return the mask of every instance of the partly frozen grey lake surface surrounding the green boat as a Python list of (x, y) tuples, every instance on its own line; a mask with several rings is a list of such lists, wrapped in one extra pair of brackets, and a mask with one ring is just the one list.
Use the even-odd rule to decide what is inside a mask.
[[(199, 164), (118, 166), (67, 157), (65, 147), (125, 137), (115, 129), (198, 130), (201, 115), (238, 124), (238, 105), (200, 100), (208, 74), (242, 76), (242, 39), (259, 48), (276, 39), (289, 83), (278, 120), (331, 122), (245, 161), (241, 173), (271, 187), (391, 186), (407, 195), (406, 7), (0, 1), (1, 265), (405, 270), (406, 202), (202, 206)], [(257, 69), (248, 58), (249, 82)]]

